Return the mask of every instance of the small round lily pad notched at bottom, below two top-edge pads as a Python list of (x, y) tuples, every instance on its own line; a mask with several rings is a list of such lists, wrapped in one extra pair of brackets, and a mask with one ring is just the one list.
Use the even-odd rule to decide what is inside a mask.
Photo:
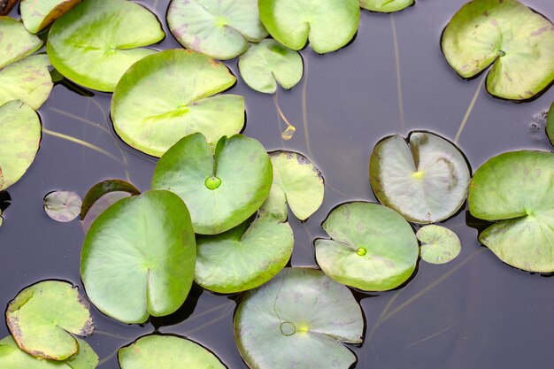
[(290, 89), (302, 80), (304, 62), (298, 51), (267, 39), (251, 45), (239, 58), (239, 70), (250, 88), (273, 94), (277, 83)]

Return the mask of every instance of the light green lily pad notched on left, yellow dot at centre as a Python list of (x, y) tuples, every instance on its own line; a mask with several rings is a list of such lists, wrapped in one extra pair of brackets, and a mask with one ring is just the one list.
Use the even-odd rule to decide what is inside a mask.
[(334, 281), (385, 291), (402, 285), (415, 271), (418, 241), (396, 211), (380, 204), (342, 204), (322, 227), (331, 239), (315, 241), (316, 259)]

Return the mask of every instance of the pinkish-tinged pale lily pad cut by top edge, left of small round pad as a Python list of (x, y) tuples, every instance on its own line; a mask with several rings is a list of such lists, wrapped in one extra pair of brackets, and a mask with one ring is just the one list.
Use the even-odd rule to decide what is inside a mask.
[(216, 59), (238, 57), (267, 36), (258, 0), (172, 0), (167, 25), (181, 45)]

